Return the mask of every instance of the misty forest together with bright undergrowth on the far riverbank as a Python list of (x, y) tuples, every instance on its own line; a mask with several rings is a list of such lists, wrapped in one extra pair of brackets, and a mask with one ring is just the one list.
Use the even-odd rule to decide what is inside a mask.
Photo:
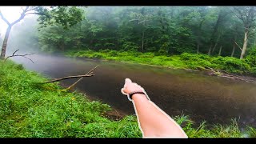
[[(59, 24), (68, 19), (39, 24), (30, 22), (35, 21), (36, 16), (27, 18), (26, 24), (16, 26), (18, 38), (10, 39), (21, 41), (25, 31), (26, 38), (10, 43), (29, 42), (26, 45), (36, 47), (34, 49), (73, 57), (255, 74), (254, 6), (89, 6), (79, 9), (82, 19), (69, 27)], [(42, 16), (39, 18), (42, 22)], [(38, 31), (31, 30), (31, 25), (38, 27)], [(118, 56), (123, 52), (128, 53)], [(166, 57), (146, 59), (155, 56)]]

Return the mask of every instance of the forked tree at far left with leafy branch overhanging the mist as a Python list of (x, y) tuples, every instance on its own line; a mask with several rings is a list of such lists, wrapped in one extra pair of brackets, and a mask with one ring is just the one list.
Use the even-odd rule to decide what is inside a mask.
[(0, 17), (8, 25), (5, 38), (2, 42), (2, 52), (0, 56), (1, 59), (4, 59), (6, 56), (6, 48), (8, 38), (10, 35), (10, 30), (15, 24), (20, 22), (28, 14), (40, 15), (38, 21), (42, 26), (60, 25), (63, 26), (65, 29), (67, 29), (70, 26), (74, 26), (74, 24), (82, 21), (82, 10), (79, 10), (74, 6), (52, 6), (50, 9), (40, 6), (26, 6), (25, 9), (22, 8), (22, 13), (20, 17), (12, 23), (8, 22), (8, 20), (3, 16), (2, 12), (0, 11)]

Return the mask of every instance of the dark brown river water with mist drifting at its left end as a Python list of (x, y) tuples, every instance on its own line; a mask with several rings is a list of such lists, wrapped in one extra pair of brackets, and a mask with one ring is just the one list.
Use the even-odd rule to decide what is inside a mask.
[[(50, 78), (86, 74), (94, 70), (94, 77), (83, 78), (74, 87), (91, 98), (109, 104), (122, 114), (135, 114), (134, 107), (121, 88), (125, 78), (144, 87), (150, 99), (170, 116), (188, 114), (194, 122), (230, 123), (237, 118), (241, 125), (255, 126), (256, 85), (209, 76), (202, 72), (173, 70), (122, 62), (64, 58), (34, 54), (26, 58), (12, 58), (27, 70), (34, 70)], [(62, 81), (70, 85), (76, 79)]]

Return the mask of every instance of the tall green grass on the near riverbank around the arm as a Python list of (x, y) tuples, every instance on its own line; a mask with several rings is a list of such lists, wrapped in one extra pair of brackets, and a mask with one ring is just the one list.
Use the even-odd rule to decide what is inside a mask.
[[(45, 80), (23, 70), (22, 65), (0, 61), (1, 138), (142, 137), (136, 117), (110, 120), (104, 117), (110, 106), (90, 102), (84, 94), (60, 91), (57, 84), (35, 84)], [(190, 138), (256, 136), (256, 130), (250, 127), (242, 133), (234, 120), (229, 126), (207, 126), (202, 122), (199, 127), (194, 127), (187, 116), (177, 116), (175, 120)]]

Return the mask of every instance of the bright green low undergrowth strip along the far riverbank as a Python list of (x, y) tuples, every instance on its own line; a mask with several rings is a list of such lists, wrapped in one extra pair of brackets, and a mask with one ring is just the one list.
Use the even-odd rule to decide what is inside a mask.
[(256, 68), (247, 59), (240, 60), (232, 57), (210, 57), (206, 54), (188, 54), (168, 56), (167, 54), (140, 53), (134, 51), (116, 50), (79, 50), (68, 51), (66, 56), (78, 58), (102, 58), (118, 62), (134, 62), (155, 66), (166, 66), (178, 69), (202, 69), (210, 67), (214, 70), (225, 70), (232, 74), (255, 75)]

